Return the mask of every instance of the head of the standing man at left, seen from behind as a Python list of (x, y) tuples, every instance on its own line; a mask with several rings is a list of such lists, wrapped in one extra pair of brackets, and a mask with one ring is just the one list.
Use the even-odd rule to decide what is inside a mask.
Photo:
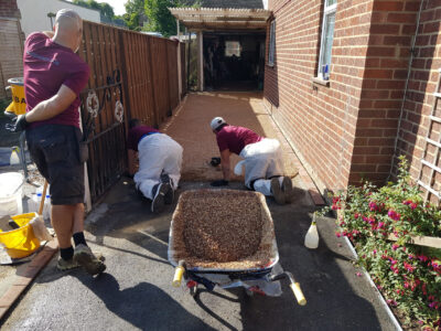
[(83, 20), (78, 13), (72, 9), (58, 10), (54, 29), (54, 41), (76, 52), (83, 35)]

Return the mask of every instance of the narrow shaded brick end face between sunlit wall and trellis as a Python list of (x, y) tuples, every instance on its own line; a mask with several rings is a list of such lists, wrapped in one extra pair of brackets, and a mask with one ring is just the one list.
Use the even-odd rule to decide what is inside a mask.
[(420, 1), (374, 1), (349, 181), (389, 178)]

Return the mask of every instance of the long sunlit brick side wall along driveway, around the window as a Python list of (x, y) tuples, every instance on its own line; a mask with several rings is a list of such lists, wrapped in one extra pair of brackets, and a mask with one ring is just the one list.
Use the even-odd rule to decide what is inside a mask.
[(338, 1), (330, 86), (323, 86), (312, 81), (323, 1), (270, 2), (276, 65), (266, 67), (266, 104), (322, 190), (344, 189), (349, 180), (373, 6), (353, 3)]

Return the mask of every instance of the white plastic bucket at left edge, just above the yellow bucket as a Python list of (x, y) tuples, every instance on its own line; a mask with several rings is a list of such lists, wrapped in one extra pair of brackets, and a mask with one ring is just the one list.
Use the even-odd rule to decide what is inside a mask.
[(23, 175), (19, 172), (0, 174), (0, 216), (23, 213)]

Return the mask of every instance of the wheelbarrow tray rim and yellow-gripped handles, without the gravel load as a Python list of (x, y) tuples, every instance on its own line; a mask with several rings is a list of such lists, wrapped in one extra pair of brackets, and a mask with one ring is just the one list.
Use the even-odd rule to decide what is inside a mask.
[[(267, 220), (261, 228), (262, 243), (260, 246), (267, 247), (268, 260), (265, 264), (257, 264), (255, 266), (245, 266), (245, 264), (243, 265), (239, 260), (226, 264), (213, 264), (215, 266), (213, 267), (209, 261), (208, 264), (198, 264), (194, 258), (190, 258), (191, 263), (189, 264), (185, 260), (185, 254), (179, 252), (182, 249), (178, 247), (181, 246), (181, 244), (176, 244), (176, 236), (181, 235), (180, 232), (182, 231), (182, 226), (176, 222), (185, 222), (185, 220), (183, 220), (183, 215), (185, 214), (183, 212), (184, 205), (189, 205), (189, 202), (194, 194), (201, 194), (204, 195), (205, 199), (212, 197), (214, 200), (217, 200), (218, 195), (225, 196), (226, 194), (232, 194), (232, 199), (234, 199), (234, 194), (252, 194), (257, 196), (257, 201), (263, 215), (262, 217)], [(197, 200), (194, 200), (194, 203), (197, 203)], [(207, 203), (206, 206), (209, 207), (209, 203)], [(201, 205), (200, 207), (204, 209), (204, 205)], [(216, 220), (216, 224), (222, 226), (217, 221), (218, 220)], [(265, 241), (266, 243), (263, 243)], [(175, 267), (172, 285), (174, 287), (180, 287), (182, 285), (182, 279), (184, 279), (184, 284), (190, 289), (192, 296), (196, 295), (198, 287), (205, 287), (208, 291), (212, 291), (215, 287), (243, 287), (248, 296), (259, 293), (278, 297), (282, 293), (280, 280), (287, 279), (298, 303), (301, 306), (306, 305), (306, 300), (299, 282), (294, 280), (291, 273), (283, 271), (279, 264), (279, 253), (276, 236), (273, 235), (273, 223), (265, 196), (261, 193), (235, 190), (194, 190), (181, 194), (170, 227), (168, 258), (170, 264)]]

